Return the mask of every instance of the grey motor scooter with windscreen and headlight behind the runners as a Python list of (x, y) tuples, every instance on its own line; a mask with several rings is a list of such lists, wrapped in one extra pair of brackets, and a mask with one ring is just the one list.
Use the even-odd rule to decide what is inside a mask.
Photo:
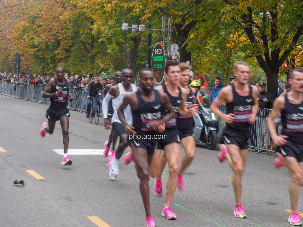
[(210, 101), (201, 97), (194, 99), (195, 103), (199, 104), (199, 109), (194, 116), (194, 138), (196, 144), (206, 143), (210, 150), (214, 150), (217, 146), (217, 135), (219, 118), (210, 110)]

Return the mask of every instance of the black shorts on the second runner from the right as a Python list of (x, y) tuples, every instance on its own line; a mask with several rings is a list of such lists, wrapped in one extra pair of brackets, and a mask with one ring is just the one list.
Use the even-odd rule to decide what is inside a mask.
[(226, 142), (226, 144), (235, 144), (240, 150), (247, 149), (247, 141), (250, 138), (250, 131), (236, 131), (229, 128), (224, 128), (220, 143)]

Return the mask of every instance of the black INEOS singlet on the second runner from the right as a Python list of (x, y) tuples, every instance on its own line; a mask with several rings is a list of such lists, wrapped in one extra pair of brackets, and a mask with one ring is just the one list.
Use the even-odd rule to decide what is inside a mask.
[(235, 130), (248, 131), (250, 123), (248, 122), (251, 108), (254, 105), (254, 98), (252, 96), (252, 87), (248, 84), (248, 96), (241, 96), (236, 92), (235, 85), (232, 84), (233, 100), (231, 103), (226, 104), (227, 113), (235, 114), (235, 121), (231, 124), (226, 124), (226, 127)]

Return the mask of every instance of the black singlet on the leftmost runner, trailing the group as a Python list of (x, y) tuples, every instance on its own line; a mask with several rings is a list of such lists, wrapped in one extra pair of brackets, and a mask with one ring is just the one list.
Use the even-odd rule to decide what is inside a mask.
[(55, 93), (60, 88), (63, 89), (63, 94), (62, 95), (59, 95), (58, 97), (55, 96), (55, 97), (50, 98), (50, 100), (51, 100), (50, 107), (52, 109), (57, 109), (58, 110), (58, 109), (62, 109), (64, 107), (68, 106), (67, 98), (68, 98), (69, 87), (68, 87), (66, 78), (64, 78), (65, 83), (63, 85), (58, 83), (57, 78), (54, 78), (54, 80), (55, 80), (55, 87), (53, 89), (51, 89), (49, 91), (49, 93)]

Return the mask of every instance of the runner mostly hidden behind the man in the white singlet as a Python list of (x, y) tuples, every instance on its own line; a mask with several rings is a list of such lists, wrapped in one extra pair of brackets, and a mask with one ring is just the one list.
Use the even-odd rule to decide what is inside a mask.
[[(105, 88), (102, 90), (102, 97), (103, 97), (103, 99), (104, 99), (105, 95), (107, 94), (108, 90), (112, 86), (115, 86), (116, 84), (119, 84), (121, 82), (122, 82), (122, 72), (121, 71), (116, 71), (115, 72), (115, 82), (113, 82), (112, 84), (107, 84), (105, 86)], [(112, 122), (113, 113), (114, 113), (114, 109), (113, 109), (113, 106), (112, 106), (112, 99), (110, 99), (108, 101), (108, 112), (107, 112), (108, 122), (110, 122), (110, 123)], [(109, 152), (109, 149), (111, 147), (111, 144), (113, 144), (112, 150), (111, 150), (111, 159), (113, 157), (115, 157), (115, 144), (116, 144), (117, 138), (118, 138), (118, 135), (115, 132), (115, 130), (112, 128), (112, 131), (111, 131), (111, 134), (109, 135), (108, 140), (105, 141), (105, 143), (104, 143), (104, 146), (105, 146), (105, 150), (104, 150), (104, 153), (103, 153), (104, 157), (108, 156), (108, 152)]]

